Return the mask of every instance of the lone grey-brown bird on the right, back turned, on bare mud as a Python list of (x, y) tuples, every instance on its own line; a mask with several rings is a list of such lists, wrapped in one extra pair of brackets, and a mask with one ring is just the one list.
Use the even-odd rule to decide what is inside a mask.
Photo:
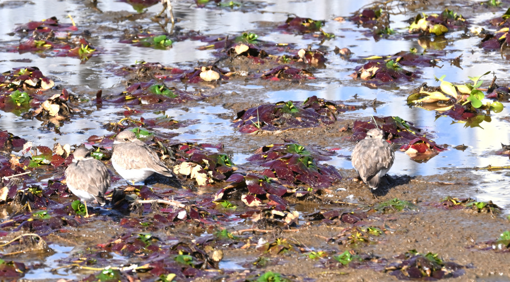
[(352, 165), (360, 178), (373, 190), (379, 187), (380, 178), (384, 176), (395, 161), (395, 151), (384, 139), (384, 132), (371, 129), (352, 151)]

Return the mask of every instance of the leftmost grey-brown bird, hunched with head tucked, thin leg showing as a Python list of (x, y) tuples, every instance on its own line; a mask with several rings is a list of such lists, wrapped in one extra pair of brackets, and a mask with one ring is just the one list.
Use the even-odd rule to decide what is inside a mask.
[(105, 164), (90, 157), (90, 151), (78, 147), (74, 159), (64, 172), (67, 187), (85, 204), (85, 217), (89, 217), (87, 201), (96, 200), (101, 206), (106, 203), (105, 193), (110, 187), (110, 173)]

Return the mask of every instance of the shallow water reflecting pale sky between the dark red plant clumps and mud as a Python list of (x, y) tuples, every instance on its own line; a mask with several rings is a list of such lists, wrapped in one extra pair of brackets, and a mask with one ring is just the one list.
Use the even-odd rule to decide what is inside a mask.
[[(74, 20), (80, 24), (87, 24), (87, 21), (104, 22), (107, 27), (111, 24), (112, 30), (115, 32), (123, 29), (135, 27), (139, 24), (150, 24), (150, 21), (113, 21), (109, 19), (115, 18), (116, 14), (135, 13), (131, 6), (114, 1), (102, 1), (98, 3), (97, 8), (104, 14), (96, 14), (90, 8), (84, 6), (83, 1), (35, 1), (35, 4), (24, 4), (18, 7), (8, 6), (0, 9), (0, 22), (2, 23), (3, 33), (0, 34), (0, 44), (9, 42), (17, 42), (17, 36), (9, 36), (7, 31), (14, 29), (15, 24), (25, 23), (29, 20), (40, 20), (51, 16), (57, 16), (61, 22), (69, 22), (65, 18), (71, 13)], [(196, 30), (202, 34), (223, 35), (231, 34), (236, 36), (242, 32), (257, 31), (264, 22), (281, 23), (287, 19), (288, 14), (296, 14), (300, 17), (310, 17), (313, 19), (325, 19), (327, 24), (324, 31), (334, 33), (335, 38), (325, 41), (322, 45), (328, 51), (325, 69), (319, 69), (314, 72), (315, 81), (305, 82), (309, 88), (313, 90), (302, 89), (285, 89), (272, 90), (257, 84), (239, 84), (219, 85), (215, 91), (237, 92), (247, 90), (256, 90), (259, 94), (258, 100), (264, 102), (277, 102), (281, 100), (304, 100), (312, 95), (330, 100), (347, 100), (353, 99), (355, 94), (363, 99), (377, 99), (385, 102), (384, 105), (374, 109), (367, 108), (356, 112), (347, 112), (340, 118), (364, 118), (368, 119), (371, 115), (389, 116), (398, 115), (401, 118), (412, 121), (420, 128), (432, 132), (437, 138), (434, 139), (438, 144), (448, 144), (448, 150), (441, 152), (438, 156), (433, 157), (426, 163), (417, 163), (411, 160), (402, 152), (396, 153), (396, 161), (392, 167), (390, 174), (396, 175), (435, 175), (443, 174), (450, 170), (466, 171), (473, 173), (477, 177), (478, 194), (472, 195), (478, 200), (492, 200), (499, 206), (505, 208), (505, 213), (509, 213), (510, 208), (510, 192), (507, 191), (505, 183), (508, 180), (508, 172), (498, 171), (491, 172), (487, 170), (474, 171), (474, 167), (505, 166), (508, 164), (508, 158), (496, 155), (499, 150), (500, 143), (508, 144), (510, 140), (510, 131), (508, 123), (502, 120), (502, 117), (510, 114), (508, 104), (499, 114), (493, 114), (490, 123), (483, 122), (481, 126), (469, 128), (464, 123), (452, 123), (450, 117), (436, 118), (434, 111), (426, 111), (423, 109), (408, 107), (405, 105), (405, 98), (411, 93), (411, 89), (419, 86), (423, 82), (427, 82), (429, 86), (438, 86), (439, 84), (433, 80), (434, 76), (440, 77), (446, 74), (446, 80), (453, 83), (468, 82), (467, 76), (477, 76), (486, 71), (493, 71), (498, 78), (498, 84), (510, 81), (508, 76), (508, 61), (500, 57), (497, 52), (484, 52), (477, 47), (479, 43), (478, 37), (459, 39), (462, 32), (454, 32), (448, 35), (449, 38), (455, 38), (455, 42), (449, 42), (445, 47), (447, 52), (446, 58), (439, 65), (442, 68), (420, 68), (421, 78), (413, 83), (405, 85), (385, 86), (379, 89), (370, 89), (362, 86), (359, 81), (353, 81), (348, 75), (352, 73), (354, 67), (359, 63), (350, 62), (342, 59), (333, 53), (333, 49), (338, 46), (340, 48), (348, 46), (352, 51), (352, 57), (364, 57), (372, 55), (390, 55), (401, 50), (409, 50), (412, 47), (418, 48), (422, 52), (422, 48), (416, 43), (416, 40), (389, 40), (381, 39), (374, 42), (371, 37), (364, 35), (360, 31), (367, 29), (358, 28), (355, 24), (348, 21), (337, 22), (333, 18), (337, 16), (348, 16), (352, 12), (360, 9), (363, 5), (370, 1), (264, 1), (256, 2), (264, 7), (257, 12), (231, 11), (229, 9), (208, 9), (196, 8), (190, 2), (177, 1), (175, 3), (175, 14), (181, 21), (178, 26), (185, 30)], [(161, 9), (161, 5), (150, 7), (147, 13), (157, 13)], [(262, 13), (263, 12), (263, 13)], [(439, 12), (439, 11), (430, 11)], [(407, 23), (404, 20), (414, 17), (416, 12), (394, 16), (391, 18), (392, 27), (395, 30), (405, 32)], [(466, 15), (469, 17), (469, 15)], [(470, 20), (475, 25), (494, 16), (492, 12), (477, 13), (471, 16)], [(120, 16), (117, 16), (120, 18)], [(154, 27), (153, 27), (154, 28)], [(106, 29), (106, 27), (105, 27)], [(300, 35), (282, 34), (278, 32), (268, 32), (267, 29), (260, 28), (264, 31), (261, 35), (262, 40), (275, 42), (295, 43), (297, 46), (306, 47), (312, 44), (313, 48), (318, 47), (317, 41), (303, 39)], [(93, 32), (93, 31), (92, 31)], [(94, 34), (94, 32), (93, 32)], [(98, 31), (92, 37), (91, 42), (99, 45), (104, 49), (104, 53), (99, 56), (92, 57), (85, 64), (80, 64), (79, 59), (73, 58), (41, 58), (31, 53), (2, 53), (0, 60), (0, 70), (8, 71), (14, 67), (21, 66), (37, 66), (45, 75), (50, 75), (57, 84), (61, 84), (68, 89), (72, 89), (73, 94), (83, 95), (93, 98), (97, 90), (103, 89), (105, 94), (114, 94), (123, 90), (123, 78), (112, 75), (107, 66), (110, 65), (131, 65), (135, 61), (160, 62), (165, 65), (190, 67), (195, 66), (197, 61), (212, 62), (216, 58), (212, 56), (210, 50), (198, 50), (197, 47), (206, 43), (200, 41), (186, 40), (174, 43), (169, 50), (155, 50), (151, 48), (141, 48), (129, 46), (118, 42), (118, 38), (105, 38), (105, 33)], [(473, 50), (473, 52), (471, 52)], [(463, 69), (450, 65), (451, 60), (460, 55), (462, 56), (461, 66)], [(29, 59), (30, 63), (15, 62), (13, 60)], [(413, 70), (412, 68), (405, 67)], [(484, 77), (486, 82), (490, 82), (492, 75)], [(184, 88), (182, 84), (176, 84), (179, 88)], [(487, 85), (484, 84), (484, 86)], [(201, 86), (190, 86), (188, 90), (194, 90)], [(246, 101), (251, 102), (250, 100)], [(176, 130), (161, 129), (162, 132), (174, 132), (179, 135), (176, 140), (190, 142), (217, 143), (223, 136), (240, 135), (231, 127), (231, 120), (220, 118), (219, 115), (233, 116), (234, 112), (220, 106), (211, 106), (207, 102), (197, 102), (196, 106), (190, 107), (183, 105), (169, 109), (165, 114), (172, 116), (176, 120), (198, 119), (197, 124), (182, 127)], [(26, 120), (15, 116), (11, 113), (1, 113), (0, 129), (7, 130), (10, 133), (29, 139), (37, 145), (45, 145), (53, 147), (53, 144), (59, 142), (61, 144), (81, 144), (86, 142), (91, 135), (107, 135), (111, 132), (105, 129), (104, 124), (117, 121), (121, 114), (118, 105), (105, 105), (94, 110), (89, 116), (72, 118), (72, 122), (64, 124), (59, 128), (58, 132), (42, 129), (41, 122), (34, 120)], [(144, 118), (154, 118), (160, 116), (161, 113), (146, 111)], [(464, 151), (453, 149), (453, 146), (466, 145)], [(232, 144), (224, 144), (228, 149), (236, 147)], [(337, 168), (352, 168), (350, 160), (345, 157), (350, 155), (351, 147), (341, 147), (337, 150), (339, 156), (334, 156), (332, 160), (326, 163), (334, 165)], [(330, 148), (338, 148), (336, 144), (332, 144)], [(237, 152), (235, 150), (233, 161), (236, 164), (243, 164), (250, 154), (248, 152)], [(448, 195), (445, 191), (444, 196)], [(67, 247), (53, 246), (57, 252), (46, 259), (46, 264), (63, 258), (70, 251)], [(242, 263), (238, 261), (222, 261), (220, 268), (230, 270), (243, 269)], [(66, 278), (74, 279), (69, 273), (67, 274), (48, 274), (49, 276), (41, 276), (47, 271), (47, 268), (37, 269), (25, 275), (27, 279), (48, 278), (54, 279), (65, 275)]]

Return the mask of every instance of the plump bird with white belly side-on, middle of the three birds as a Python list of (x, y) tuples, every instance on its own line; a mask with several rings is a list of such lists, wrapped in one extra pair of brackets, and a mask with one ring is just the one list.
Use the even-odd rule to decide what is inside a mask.
[(136, 138), (132, 131), (122, 131), (115, 137), (112, 165), (120, 176), (133, 185), (146, 180), (155, 172), (175, 178), (172, 171), (160, 161), (158, 154)]

